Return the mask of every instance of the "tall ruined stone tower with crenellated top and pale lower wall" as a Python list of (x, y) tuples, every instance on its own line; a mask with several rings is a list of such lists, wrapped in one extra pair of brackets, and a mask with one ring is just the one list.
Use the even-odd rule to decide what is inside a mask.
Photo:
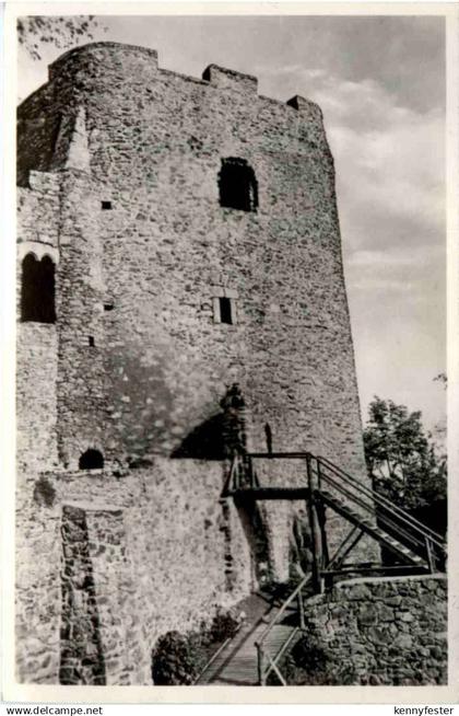
[(301, 508), (261, 554), (235, 446), (366, 480), (333, 160), (314, 103), (116, 43), (54, 62), (17, 139), (19, 677), (151, 683), (158, 635), (287, 576)]

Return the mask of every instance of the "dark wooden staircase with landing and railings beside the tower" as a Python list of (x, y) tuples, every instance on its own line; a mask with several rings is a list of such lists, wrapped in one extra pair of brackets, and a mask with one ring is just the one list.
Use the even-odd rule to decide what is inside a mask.
[[(262, 486), (256, 470), (259, 460), (304, 461), (305, 484), (295, 487)], [(305, 628), (305, 600), (331, 588), (336, 577), (432, 574), (446, 569), (446, 541), (443, 536), (326, 458), (310, 452), (236, 453), (223, 496), (233, 497), (238, 504), (285, 499), (304, 499), (307, 504), (313, 544), (311, 574), (284, 600), (266, 630), (257, 633), (254, 646), (257, 649), (258, 683), (261, 685), (271, 674), (275, 674), (279, 683), (286, 685), (280, 663)], [(327, 510), (350, 524), (350, 531), (331, 556), (327, 539)], [(395, 564), (350, 562), (349, 557), (363, 535), (388, 550), (395, 557)], [(290, 628), (285, 630), (285, 638), (273, 640), (273, 634), (280, 632), (286, 614)]]

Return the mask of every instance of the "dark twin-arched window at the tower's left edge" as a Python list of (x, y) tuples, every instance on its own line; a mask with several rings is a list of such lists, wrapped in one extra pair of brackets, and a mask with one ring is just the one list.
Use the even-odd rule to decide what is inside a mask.
[(55, 264), (27, 254), (22, 262), (21, 321), (55, 323)]

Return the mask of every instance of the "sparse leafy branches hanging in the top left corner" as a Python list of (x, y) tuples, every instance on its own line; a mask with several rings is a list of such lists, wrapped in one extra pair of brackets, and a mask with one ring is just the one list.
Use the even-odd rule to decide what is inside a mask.
[(44, 45), (68, 49), (81, 39), (94, 39), (98, 26), (94, 15), (26, 15), (17, 20), (17, 41), (33, 59), (39, 60)]

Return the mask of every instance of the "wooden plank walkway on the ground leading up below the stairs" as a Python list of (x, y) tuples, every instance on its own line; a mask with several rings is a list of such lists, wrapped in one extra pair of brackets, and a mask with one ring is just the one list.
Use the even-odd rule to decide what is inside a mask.
[[(278, 609), (269, 612), (269, 620), (273, 619)], [(266, 651), (273, 657), (287, 636), (295, 627), (295, 609), (285, 613), (284, 620), (276, 624), (269, 634)], [(246, 624), (238, 634), (219, 654), (215, 661), (202, 674), (199, 684), (220, 684), (234, 686), (256, 686), (258, 684), (257, 647), (255, 643), (261, 637), (268, 625), (267, 620), (259, 620), (256, 624)]]

